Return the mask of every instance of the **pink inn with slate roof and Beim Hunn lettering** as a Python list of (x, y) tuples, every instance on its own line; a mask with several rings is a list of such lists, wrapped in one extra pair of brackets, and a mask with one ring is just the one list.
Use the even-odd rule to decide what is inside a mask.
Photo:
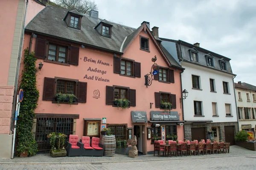
[[(102, 127), (110, 127), (116, 140), (137, 136), (143, 154), (152, 153), (154, 138), (184, 139), (183, 68), (161, 46), (158, 28), (152, 32), (149, 28), (145, 21), (134, 29), (101, 20), (97, 11), (83, 15), (53, 6), (26, 26), (23, 49), (36, 34), (31, 50), (37, 64), (43, 63), (37, 73), (40, 97), (34, 127), (39, 150), (47, 149), (46, 135), (51, 132), (77, 134), (81, 139), (99, 137)], [(146, 87), (145, 75), (155, 56), (158, 74)], [(59, 93), (77, 99), (59, 106), (55, 97)], [(128, 108), (118, 108), (114, 99), (128, 99)], [(161, 101), (172, 103), (172, 110), (164, 112)]]

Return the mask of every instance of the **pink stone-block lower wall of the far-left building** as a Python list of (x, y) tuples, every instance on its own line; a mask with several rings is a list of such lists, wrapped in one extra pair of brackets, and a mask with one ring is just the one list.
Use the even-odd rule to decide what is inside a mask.
[(10, 133), (13, 86), (0, 86), (0, 134)]

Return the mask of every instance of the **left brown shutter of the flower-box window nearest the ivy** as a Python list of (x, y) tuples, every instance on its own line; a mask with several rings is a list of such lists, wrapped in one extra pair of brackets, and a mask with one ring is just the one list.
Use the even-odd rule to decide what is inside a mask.
[(55, 79), (44, 77), (43, 100), (52, 101), (54, 99), (54, 87), (55, 87)]

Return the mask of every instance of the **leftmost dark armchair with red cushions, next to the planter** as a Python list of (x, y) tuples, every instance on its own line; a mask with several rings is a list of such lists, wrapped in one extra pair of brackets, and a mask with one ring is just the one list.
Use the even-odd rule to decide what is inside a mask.
[(78, 142), (77, 135), (70, 135), (67, 142), (67, 156), (81, 156), (84, 144)]

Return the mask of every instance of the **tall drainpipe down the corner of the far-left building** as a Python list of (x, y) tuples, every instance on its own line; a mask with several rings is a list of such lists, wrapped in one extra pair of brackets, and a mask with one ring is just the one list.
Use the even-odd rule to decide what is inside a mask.
[(22, 34), (21, 34), (21, 39), (20, 39), (20, 49), (19, 49), (19, 56), (18, 56), (18, 62), (17, 62), (17, 68), (16, 68), (16, 75), (15, 75), (15, 85), (14, 85), (14, 95), (13, 95), (13, 105), (12, 105), (12, 123), (11, 123), (11, 131), (14, 131), (14, 114), (15, 114), (15, 102), (16, 102), (16, 97), (17, 97), (17, 88), (18, 88), (18, 80), (19, 80), (19, 72), (20, 72), (20, 60), (21, 60), (21, 55), (23, 51), (23, 41), (24, 41), (24, 31), (25, 31), (25, 24), (26, 24), (26, 14), (28, 11), (28, 5), (29, 5), (29, 0), (26, 0), (26, 9), (25, 9), (25, 14), (24, 14), (24, 20), (23, 20), (23, 29), (22, 29)]

